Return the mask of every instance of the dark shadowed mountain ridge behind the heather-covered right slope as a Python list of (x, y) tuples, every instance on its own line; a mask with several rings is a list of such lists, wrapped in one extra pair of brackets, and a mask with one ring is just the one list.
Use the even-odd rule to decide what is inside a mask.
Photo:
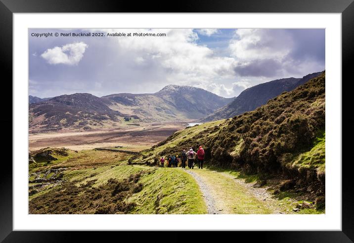
[(289, 92), (296, 87), (306, 83), (310, 79), (317, 77), (321, 72), (311, 73), (303, 78), (285, 78), (273, 80), (259, 84), (244, 90), (232, 102), (216, 110), (215, 113), (201, 119), (202, 122), (220, 120), (240, 115), (246, 111), (251, 111), (260, 107), (266, 102), (280, 95), (283, 92)]

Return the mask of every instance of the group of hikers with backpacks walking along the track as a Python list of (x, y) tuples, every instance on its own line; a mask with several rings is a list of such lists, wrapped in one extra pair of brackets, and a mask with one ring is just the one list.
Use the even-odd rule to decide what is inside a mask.
[(197, 160), (198, 168), (203, 169), (204, 155), (205, 152), (202, 146), (199, 146), (197, 152), (193, 151), (193, 148), (189, 148), (188, 151), (185, 151), (183, 149), (180, 155), (169, 155), (166, 157), (166, 159), (164, 157), (161, 157), (161, 167), (164, 167), (166, 162), (167, 167), (178, 167), (178, 164), (181, 164), (181, 167), (185, 168), (185, 165), (187, 164), (189, 169), (193, 169), (195, 161)]

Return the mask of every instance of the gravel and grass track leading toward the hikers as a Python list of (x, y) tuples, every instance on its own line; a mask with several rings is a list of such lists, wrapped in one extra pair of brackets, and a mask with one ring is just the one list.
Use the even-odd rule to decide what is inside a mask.
[(208, 213), (277, 213), (274, 208), (267, 205), (269, 201), (264, 200), (267, 197), (263, 194), (263, 189), (262, 194), (257, 194), (255, 190), (240, 183), (241, 180), (236, 180), (232, 175), (209, 169), (186, 169), (185, 172), (192, 175), (198, 183), (208, 206)]

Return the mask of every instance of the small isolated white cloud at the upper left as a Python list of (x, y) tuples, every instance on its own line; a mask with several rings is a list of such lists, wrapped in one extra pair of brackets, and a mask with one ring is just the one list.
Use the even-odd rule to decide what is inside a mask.
[(83, 58), (88, 45), (84, 42), (67, 44), (62, 47), (47, 49), (42, 53), (42, 57), (49, 64), (77, 65)]

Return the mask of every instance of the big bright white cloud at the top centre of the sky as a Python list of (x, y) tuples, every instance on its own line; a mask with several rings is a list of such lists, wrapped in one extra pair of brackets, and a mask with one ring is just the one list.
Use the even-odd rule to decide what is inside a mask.
[(192, 29), (125, 31), (166, 33), (166, 37), (114, 39), (120, 49), (120, 55), (124, 55), (126, 60), (133, 59), (135, 65), (144, 62), (144, 65), (165, 73), (161, 82), (190, 85), (192, 82), (215, 82), (234, 76), (234, 58), (216, 56), (212, 49), (198, 46), (195, 43), (198, 35)]

